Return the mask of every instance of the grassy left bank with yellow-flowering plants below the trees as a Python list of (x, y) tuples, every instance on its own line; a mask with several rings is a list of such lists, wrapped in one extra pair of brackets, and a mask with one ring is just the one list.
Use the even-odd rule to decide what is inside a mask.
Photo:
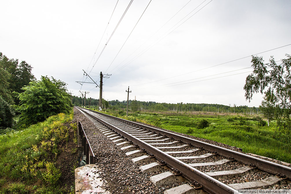
[(59, 145), (68, 142), (70, 114), (60, 113), (21, 131), (0, 135), (0, 194), (74, 193), (59, 185)]

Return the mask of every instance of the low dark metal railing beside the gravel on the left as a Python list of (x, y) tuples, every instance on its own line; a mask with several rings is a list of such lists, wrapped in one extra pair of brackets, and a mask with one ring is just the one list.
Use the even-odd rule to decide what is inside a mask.
[(83, 125), (81, 124), (80, 121), (78, 122), (77, 128), (78, 128), (78, 134), (80, 136), (80, 141), (82, 143), (82, 146), (84, 146), (84, 155), (86, 156), (86, 164), (95, 164), (95, 154), (93, 153), (91, 145), (83, 129)]

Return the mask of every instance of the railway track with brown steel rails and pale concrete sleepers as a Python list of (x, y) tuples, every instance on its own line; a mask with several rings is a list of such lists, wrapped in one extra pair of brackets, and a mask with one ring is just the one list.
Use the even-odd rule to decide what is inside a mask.
[[(291, 168), (288, 166), (104, 113), (77, 108), (87, 115), (100, 132), (120, 145), (121, 149), (127, 150), (127, 155), (137, 156), (132, 159), (133, 163), (148, 162), (148, 165), (140, 167), (144, 173), (153, 169), (168, 169), (167, 172), (150, 177), (156, 186), (166, 184), (166, 180), (184, 181), (184, 177), (186, 182), (191, 183), (191, 186), (185, 184), (170, 189), (166, 191), (168, 193), (200, 188), (203, 189), (200, 192), (207, 193), (237, 193), (239, 189), (269, 188), (290, 182), (288, 177), (291, 177)], [(159, 163), (150, 163), (153, 158)], [(254, 173), (260, 179), (238, 180), (238, 177), (248, 177)]]

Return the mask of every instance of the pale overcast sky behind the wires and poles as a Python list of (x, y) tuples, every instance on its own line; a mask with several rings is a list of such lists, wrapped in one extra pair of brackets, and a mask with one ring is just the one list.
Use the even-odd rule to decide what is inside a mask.
[[(37, 79), (66, 82), (74, 95), (99, 98), (95, 84), (75, 82), (92, 82), (84, 69), (98, 84), (100, 71), (112, 74), (106, 100), (126, 100), (129, 86), (129, 99), (140, 101), (259, 106), (262, 95), (244, 97), (247, 56), (291, 44), (290, 0), (134, 0), (111, 36), (130, 0), (116, 2), (0, 0), (0, 52), (25, 60)], [(267, 63), (285, 54), (291, 45), (258, 56)]]

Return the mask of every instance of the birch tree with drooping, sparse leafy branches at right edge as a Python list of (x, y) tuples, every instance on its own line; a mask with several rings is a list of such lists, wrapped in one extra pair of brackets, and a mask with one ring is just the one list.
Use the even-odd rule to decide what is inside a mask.
[(254, 93), (264, 93), (262, 102), (264, 114), (268, 119), (274, 115), (278, 125), (278, 132), (287, 135), (288, 144), (291, 145), (291, 56), (282, 59), (277, 65), (271, 56), (269, 63), (264, 64), (262, 57), (253, 56), (253, 73), (246, 77), (244, 90), (249, 101)]

